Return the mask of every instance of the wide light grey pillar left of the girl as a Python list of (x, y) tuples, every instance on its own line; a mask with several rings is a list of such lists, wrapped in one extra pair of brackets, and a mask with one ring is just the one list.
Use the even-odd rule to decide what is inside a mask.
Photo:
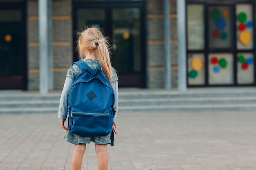
[(52, 20), (51, 0), (38, 1), (39, 16), (39, 90), (48, 93), (52, 76)]

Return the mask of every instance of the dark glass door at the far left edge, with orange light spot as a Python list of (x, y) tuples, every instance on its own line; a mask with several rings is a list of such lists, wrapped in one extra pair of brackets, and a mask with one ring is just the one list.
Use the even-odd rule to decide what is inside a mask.
[(27, 61), (23, 9), (15, 8), (15, 4), (10, 8), (1, 9), (2, 7), (0, 7), (0, 89), (25, 90)]

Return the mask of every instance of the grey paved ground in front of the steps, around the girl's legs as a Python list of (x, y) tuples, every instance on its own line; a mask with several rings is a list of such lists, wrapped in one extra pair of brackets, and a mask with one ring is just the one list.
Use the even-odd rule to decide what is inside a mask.
[[(0, 170), (71, 170), (57, 114), (0, 114)], [(109, 170), (256, 170), (256, 111), (119, 113)], [(97, 170), (89, 144), (82, 170)]]

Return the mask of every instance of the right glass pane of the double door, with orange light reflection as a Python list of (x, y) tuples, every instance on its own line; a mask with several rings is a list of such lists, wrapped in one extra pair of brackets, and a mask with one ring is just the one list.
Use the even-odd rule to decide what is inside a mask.
[(141, 86), (141, 22), (138, 8), (114, 8), (113, 62), (124, 86)]

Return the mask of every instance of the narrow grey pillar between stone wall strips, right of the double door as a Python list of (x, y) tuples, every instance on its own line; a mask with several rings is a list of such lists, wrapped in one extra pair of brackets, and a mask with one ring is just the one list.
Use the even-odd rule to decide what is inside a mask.
[(170, 0), (163, 0), (164, 13), (164, 87), (171, 88)]

